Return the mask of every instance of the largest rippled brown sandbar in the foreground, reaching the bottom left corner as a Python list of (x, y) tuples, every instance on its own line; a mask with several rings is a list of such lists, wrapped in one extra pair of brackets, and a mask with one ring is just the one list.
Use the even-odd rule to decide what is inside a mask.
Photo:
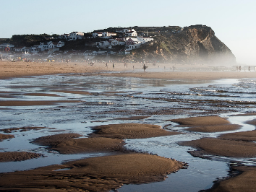
[[(0, 174), (3, 191), (109, 191), (128, 183), (164, 180), (183, 163), (151, 154), (93, 157)], [(150, 167), (150, 169), (149, 169)]]

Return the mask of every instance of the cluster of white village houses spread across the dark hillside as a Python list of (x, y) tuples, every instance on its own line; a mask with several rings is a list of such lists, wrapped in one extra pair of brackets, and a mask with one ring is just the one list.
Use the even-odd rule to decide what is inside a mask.
[[(121, 37), (117, 38), (117, 33), (121, 33)], [(22, 53), (26, 56), (41, 56), (42, 54), (48, 54), (48, 56), (53, 57), (54, 55), (67, 54), (69, 52), (69, 57), (80, 56), (80, 58), (85, 58), (86, 60), (93, 59), (98, 55), (111, 55), (111, 54), (129, 54), (132, 49), (140, 48), (142, 44), (145, 44), (153, 38), (138, 36), (137, 32), (133, 29), (119, 29), (116, 32), (93, 32), (90, 37), (87, 38), (99, 38), (98, 42), (90, 41), (90, 46), (95, 46), (99, 48), (100, 51), (66, 51), (65, 53), (59, 51), (59, 48), (65, 45), (65, 40), (79, 40), (84, 39), (85, 35), (83, 32), (71, 32), (69, 34), (59, 35), (59, 42), (48, 41), (46, 43), (40, 43), (39, 45), (33, 45), (32, 47), (14, 47), (14, 45), (9, 43), (4, 43), (0, 45), (0, 51), (2, 53), (6, 48), (9, 48), (9, 54)], [(85, 43), (85, 45), (87, 45)], [(112, 48), (116, 45), (124, 45), (119, 52), (112, 51)]]

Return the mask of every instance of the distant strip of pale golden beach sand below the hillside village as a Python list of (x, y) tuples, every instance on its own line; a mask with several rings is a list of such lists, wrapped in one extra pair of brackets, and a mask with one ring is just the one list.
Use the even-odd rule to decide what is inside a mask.
[[(144, 72), (142, 64), (128, 64), (124, 67), (122, 63), (108, 64), (95, 63), (90, 66), (87, 63), (35, 63), (35, 62), (0, 62), (0, 79), (9, 79), (16, 77), (30, 77), (40, 75), (54, 74), (85, 74), (98, 73), (102, 76), (114, 77), (139, 77), (139, 78), (158, 78), (158, 79), (199, 79), (199, 80), (216, 80), (216, 79), (242, 79), (256, 78), (255, 71), (209, 71), (209, 66), (184, 66), (176, 65), (179, 71), (165, 70), (164, 67), (170, 64), (158, 64), (149, 67)], [(194, 67), (194, 68), (193, 68)], [(193, 68), (198, 71), (186, 71)], [(201, 70), (201, 71), (200, 71)], [(114, 73), (111, 73), (114, 72)], [(118, 72), (118, 73), (117, 73)]]

